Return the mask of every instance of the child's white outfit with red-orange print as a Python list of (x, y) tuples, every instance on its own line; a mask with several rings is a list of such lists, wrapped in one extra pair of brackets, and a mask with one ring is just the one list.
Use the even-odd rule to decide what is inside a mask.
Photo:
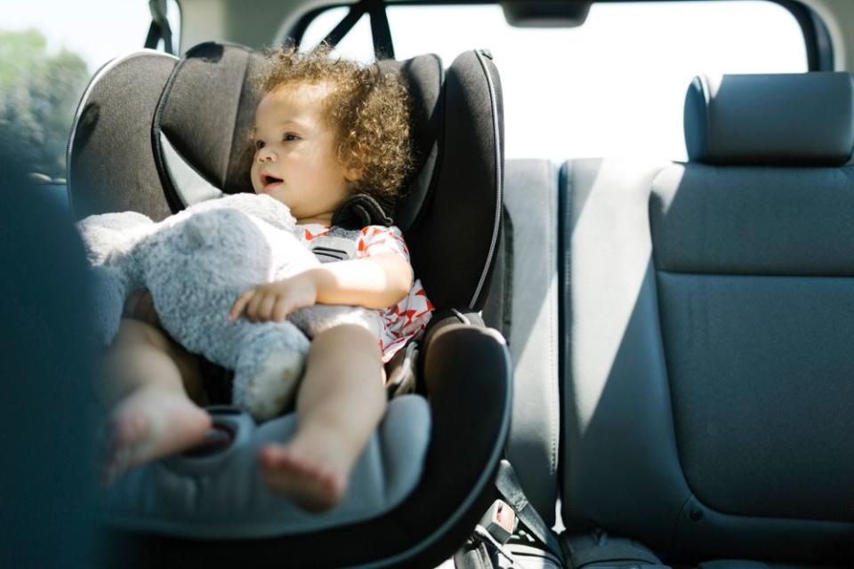
[[(300, 226), (302, 231), (302, 242), (308, 243), (315, 237), (325, 235), (329, 228), (320, 224)], [(311, 227), (311, 231), (309, 230)], [(356, 259), (364, 259), (372, 255), (391, 252), (403, 257), (409, 262), (409, 249), (403, 239), (400, 229), (391, 226), (369, 225), (362, 228), (359, 242), (356, 245)], [(409, 289), (406, 298), (388, 309), (376, 311), (383, 324), (380, 333), (380, 350), (383, 352), (383, 362), (388, 362), (399, 349), (403, 348), (410, 338), (421, 332), (423, 327), (430, 322), (433, 305), (427, 298), (427, 293), (421, 281), (415, 279), (412, 288)]]

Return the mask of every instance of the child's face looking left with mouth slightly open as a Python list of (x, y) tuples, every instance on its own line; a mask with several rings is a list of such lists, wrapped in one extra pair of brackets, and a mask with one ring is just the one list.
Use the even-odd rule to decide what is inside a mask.
[(339, 162), (335, 132), (323, 119), (329, 88), (283, 85), (255, 110), (252, 187), (286, 204), (302, 223), (331, 222), (358, 175)]

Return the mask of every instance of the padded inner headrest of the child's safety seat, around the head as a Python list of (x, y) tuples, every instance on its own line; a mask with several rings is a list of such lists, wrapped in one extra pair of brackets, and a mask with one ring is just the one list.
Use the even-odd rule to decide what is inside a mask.
[[(262, 64), (261, 53), (242, 45), (209, 42), (191, 48), (175, 68), (153, 125), (156, 154), (164, 163), (161, 171), (167, 174), (162, 181), (173, 210), (198, 198), (197, 191), (187, 184), (176, 183), (172, 174), (182, 168), (182, 164), (173, 164), (176, 155), (214, 188), (228, 193), (253, 191), (249, 137), (259, 93), (254, 91), (252, 79)], [(405, 230), (423, 204), (435, 167), (436, 153), (431, 150), (439, 136), (436, 108), (441, 61), (423, 55), (407, 61), (382, 61), (379, 66), (399, 74), (413, 102), (415, 172), (420, 175), (394, 215)], [(391, 204), (383, 206), (392, 213)]]

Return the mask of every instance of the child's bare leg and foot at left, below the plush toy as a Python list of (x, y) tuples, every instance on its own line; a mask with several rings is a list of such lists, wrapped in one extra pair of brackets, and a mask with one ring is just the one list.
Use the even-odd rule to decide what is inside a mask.
[(188, 397), (203, 397), (197, 364), (156, 327), (123, 319), (102, 365), (101, 396), (112, 409), (103, 465), (107, 481), (196, 445), (211, 428), (210, 416)]

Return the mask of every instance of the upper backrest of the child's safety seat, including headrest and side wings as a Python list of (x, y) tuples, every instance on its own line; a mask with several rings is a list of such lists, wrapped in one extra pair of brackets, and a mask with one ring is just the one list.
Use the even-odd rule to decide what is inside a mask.
[[(177, 63), (140, 52), (110, 64), (81, 100), (68, 145), (77, 216), (135, 210), (158, 220), (223, 191), (251, 192), (252, 79), (261, 65), (262, 54), (218, 43), (198, 44)], [(504, 159), (491, 56), (464, 52), (447, 71), (435, 55), (379, 66), (399, 72), (413, 100), (415, 174), (393, 217), (415, 273), (438, 308), (479, 310), (495, 260)], [(116, 100), (127, 101), (119, 116)]]

